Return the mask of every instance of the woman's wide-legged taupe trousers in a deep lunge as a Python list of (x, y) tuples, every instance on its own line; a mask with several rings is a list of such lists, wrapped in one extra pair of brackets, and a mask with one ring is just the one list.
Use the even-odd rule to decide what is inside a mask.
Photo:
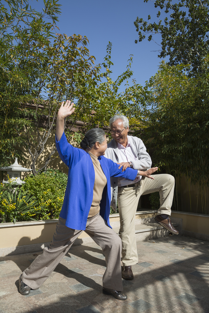
[[(89, 217), (86, 233), (102, 248), (107, 264), (103, 275), (103, 287), (118, 291), (123, 290), (121, 276), (121, 239), (99, 215)], [(50, 276), (55, 267), (70, 249), (83, 230), (75, 230), (65, 226), (65, 219), (59, 218), (53, 240), (43, 254), (37, 256), (33, 263), (24, 270), (21, 278), (32, 289), (38, 289)]]

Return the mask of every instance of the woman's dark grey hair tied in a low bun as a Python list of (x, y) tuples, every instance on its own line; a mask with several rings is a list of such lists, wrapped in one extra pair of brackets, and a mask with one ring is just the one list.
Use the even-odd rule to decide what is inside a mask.
[(80, 146), (83, 149), (91, 149), (97, 141), (99, 144), (105, 141), (105, 132), (101, 128), (91, 128), (86, 132)]

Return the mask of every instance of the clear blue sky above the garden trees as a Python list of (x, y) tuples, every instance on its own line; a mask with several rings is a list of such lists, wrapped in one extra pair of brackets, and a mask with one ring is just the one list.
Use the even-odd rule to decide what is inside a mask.
[[(160, 59), (158, 52), (152, 50), (160, 47), (147, 39), (135, 44), (138, 34), (133, 24), (137, 16), (147, 20), (148, 14), (151, 21), (157, 21), (158, 9), (154, 8), (154, 1), (60, 0), (59, 3), (62, 5), (57, 24), (60, 33), (85, 35), (89, 39), (90, 54), (96, 57), (97, 64), (103, 62), (107, 44), (112, 42), (113, 80), (126, 69), (130, 54), (133, 54), (133, 78), (138, 84), (144, 85), (157, 72)], [(155, 39), (160, 44), (160, 35), (157, 36)], [(121, 89), (124, 89), (123, 86)]]

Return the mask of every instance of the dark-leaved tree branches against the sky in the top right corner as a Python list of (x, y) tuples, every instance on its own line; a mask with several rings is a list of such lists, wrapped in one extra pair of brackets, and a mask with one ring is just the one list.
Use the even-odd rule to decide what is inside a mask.
[[(148, 2), (149, 0), (144, 0)], [(148, 34), (153, 40), (154, 34), (162, 37), (159, 58), (170, 56), (169, 65), (191, 64), (193, 73), (201, 71), (201, 59), (206, 56), (209, 48), (209, 1), (208, 0), (156, 0), (155, 8), (165, 10), (164, 23), (160, 19), (150, 23), (143, 18), (134, 22), (138, 32), (138, 40), (142, 41)]]

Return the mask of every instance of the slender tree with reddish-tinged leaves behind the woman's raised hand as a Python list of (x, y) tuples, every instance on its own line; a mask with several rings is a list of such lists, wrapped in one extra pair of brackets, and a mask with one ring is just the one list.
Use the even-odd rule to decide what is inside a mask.
[[(100, 66), (93, 66), (94, 57), (86, 48), (88, 39), (85, 36), (57, 34), (54, 43), (46, 48), (47, 67), (39, 78), (38, 96), (34, 99), (34, 128), (27, 130), (27, 147), (31, 156), (32, 173), (36, 175), (49, 166), (56, 151), (55, 140), (45, 152), (50, 136), (55, 137), (56, 114), (60, 102), (70, 99), (75, 101), (77, 113), (65, 123), (65, 133), (69, 136), (75, 122), (81, 118), (81, 110), (89, 111), (91, 90), (96, 85), (97, 71)], [(35, 166), (40, 157), (44, 162), (39, 169)]]

